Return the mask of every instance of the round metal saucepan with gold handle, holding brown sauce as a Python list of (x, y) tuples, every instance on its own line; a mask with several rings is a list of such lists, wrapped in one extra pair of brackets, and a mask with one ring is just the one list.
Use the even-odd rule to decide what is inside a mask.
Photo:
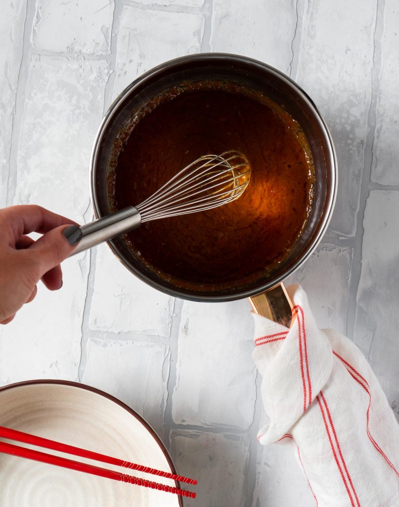
[[(309, 258), (331, 219), (337, 193), (337, 162), (329, 130), (309, 96), (290, 78), (260, 61), (244, 56), (208, 53), (171, 60), (148, 71), (119, 95), (106, 113), (91, 156), (90, 185), (96, 218), (113, 211), (108, 176), (121, 128), (140, 105), (171, 86), (187, 81), (225, 80), (259, 90), (280, 104), (301, 126), (313, 157), (315, 188), (310, 216), (288, 257), (272, 272), (250, 283), (235, 280), (229, 287), (179, 286), (161, 277), (132, 253), (123, 236), (109, 241), (115, 256), (134, 275), (171, 296), (192, 301), (232, 301), (250, 298), (253, 310), (287, 324), (291, 308), (283, 281)], [(134, 203), (132, 203), (134, 204)], [(176, 219), (178, 220), (178, 219)]]

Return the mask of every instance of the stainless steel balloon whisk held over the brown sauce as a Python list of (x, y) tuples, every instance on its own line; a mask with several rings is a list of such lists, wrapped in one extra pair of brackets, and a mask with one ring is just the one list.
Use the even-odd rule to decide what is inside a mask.
[(137, 206), (116, 211), (83, 225), (72, 255), (137, 229), (144, 222), (196, 213), (234, 201), (247, 188), (251, 168), (240, 152), (204, 155)]

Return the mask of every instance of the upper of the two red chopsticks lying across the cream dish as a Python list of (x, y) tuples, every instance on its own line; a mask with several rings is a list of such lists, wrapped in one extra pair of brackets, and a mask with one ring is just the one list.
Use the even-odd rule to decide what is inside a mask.
[(24, 444), (31, 444), (38, 447), (44, 447), (46, 449), (52, 449), (53, 451), (65, 452), (67, 454), (73, 454), (74, 456), (81, 456), (82, 458), (94, 459), (96, 461), (102, 461), (103, 463), (109, 463), (111, 465), (124, 466), (125, 468), (130, 468), (132, 470), (138, 470), (138, 472), (153, 474), (159, 477), (172, 479), (174, 481), (186, 482), (188, 484), (193, 485), (197, 484), (197, 481), (195, 479), (189, 479), (188, 477), (179, 476), (177, 474), (171, 474), (170, 472), (162, 472), (162, 470), (157, 470), (156, 468), (138, 465), (137, 463), (131, 463), (130, 461), (124, 461), (118, 458), (112, 458), (111, 456), (106, 456), (105, 454), (87, 451), (86, 449), (81, 449), (80, 447), (62, 444), (61, 442), (56, 442), (54, 440), (36, 437), (29, 433), (24, 433), (23, 431), (6, 428), (5, 426), (0, 426), (0, 438), (8, 440), (16, 440), (17, 442), (23, 442)]

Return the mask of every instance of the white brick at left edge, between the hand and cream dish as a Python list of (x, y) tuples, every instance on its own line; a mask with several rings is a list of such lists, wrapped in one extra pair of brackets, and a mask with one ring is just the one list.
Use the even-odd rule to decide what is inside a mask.
[(81, 358), (82, 317), (89, 263), (64, 263), (62, 290), (51, 293), (38, 284), (12, 326), (0, 334), (0, 380), (3, 384), (36, 378), (77, 380)]

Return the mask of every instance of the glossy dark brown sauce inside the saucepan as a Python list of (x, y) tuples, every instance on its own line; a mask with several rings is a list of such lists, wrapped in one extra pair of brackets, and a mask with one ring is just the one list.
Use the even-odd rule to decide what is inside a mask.
[(186, 84), (148, 103), (128, 130), (109, 180), (117, 209), (139, 204), (202, 155), (238, 150), (251, 164), (236, 201), (128, 234), (134, 255), (159, 276), (231, 286), (287, 257), (310, 212), (314, 173), (306, 138), (281, 106), (233, 84)]

